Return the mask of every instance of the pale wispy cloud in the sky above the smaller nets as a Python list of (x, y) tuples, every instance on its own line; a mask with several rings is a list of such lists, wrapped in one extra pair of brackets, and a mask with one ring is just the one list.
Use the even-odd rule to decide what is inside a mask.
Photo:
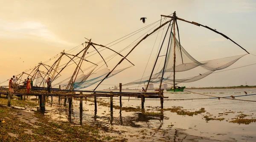
[(49, 31), (47, 26), (36, 21), (8, 22), (0, 20), (0, 37), (29, 38), (53, 45), (75, 45), (61, 40), (52, 31)]

